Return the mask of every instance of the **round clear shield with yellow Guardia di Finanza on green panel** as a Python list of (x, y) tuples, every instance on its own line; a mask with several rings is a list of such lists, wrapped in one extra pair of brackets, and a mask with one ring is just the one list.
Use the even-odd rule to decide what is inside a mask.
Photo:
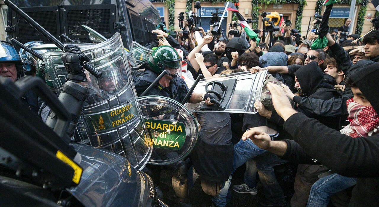
[(168, 165), (188, 156), (197, 141), (192, 114), (179, 102), (162, 96), (140, 97), (139, 104), (152, 138), (149, 164)]

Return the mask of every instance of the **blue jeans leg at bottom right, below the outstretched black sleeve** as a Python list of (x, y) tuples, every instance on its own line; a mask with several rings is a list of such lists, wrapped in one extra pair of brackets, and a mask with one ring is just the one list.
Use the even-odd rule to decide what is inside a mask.
[(312, 185), (307, 207), (327, 206), (330, 197), (334, 193), (338, 193), (355, 184), (357, 184), (356, 178), (345, 177), (337, 173), (320, 178)]

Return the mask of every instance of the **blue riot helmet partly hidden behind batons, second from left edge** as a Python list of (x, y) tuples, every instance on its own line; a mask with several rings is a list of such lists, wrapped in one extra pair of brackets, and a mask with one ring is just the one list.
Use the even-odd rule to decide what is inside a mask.
[[(45, 43), (42, 41), (33, 41), (33, 42), (27, 42), (24, 45), (27, 46), (28, 48), (31, 48), (35, 45), (42, 45), (42, 44), (45, 44)], [(51, 51), (51, 49), (34, 49), (33, 51), (42, 55), (47, 51)], [(24, 73), (26, 75), (35, 74), (38, 58), (33, 56), (32, 54), (28, 53), (27, 51), (25, 51), (22, 48), (20, 49), (19, 53), (20, 53), (21, 60), (25, 65)]]

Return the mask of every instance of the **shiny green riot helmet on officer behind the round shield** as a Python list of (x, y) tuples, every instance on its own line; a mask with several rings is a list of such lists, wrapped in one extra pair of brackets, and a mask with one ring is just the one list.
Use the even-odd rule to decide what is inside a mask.
[(149, 65), (155, 73), (160, 74), (166, 67), (180, 68), (182, 58), (173, 47), (162, 45), (150, 54)]

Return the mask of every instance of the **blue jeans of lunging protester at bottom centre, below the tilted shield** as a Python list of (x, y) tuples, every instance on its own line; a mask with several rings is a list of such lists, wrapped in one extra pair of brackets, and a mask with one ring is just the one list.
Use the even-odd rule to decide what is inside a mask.
[[(259, 156), (259, 158), (256, 158), (257, 156)], [(266, 150), (262, 150), (261, 148), (257, 147), (257, 145), (255, 145), (254, 142), (252, 142), (251, 140), (243, 141), (241, 139), (236, 145), (234, 145), (233, 169), (231, 174), (234, 173), (236, 168), (240, 167), (252, 158), (256, 158), (255, 161), (257, 164), (258, 174), (261, 178), (266, 199), (272, 199), (273, 202), (275, 202), (276, 200), (280, 200), (280, 202), (284, 201), (283, 191), (277, 183), (273, 167), (276, 165), (283, 164), (287, 161), (278, 158), (273, 153), (270, 153)], [(250, 175), (249, 185), (252, 185), (251, 187), (255, 187), (255, 180), (255, 175)], [(226, 182), (224, 188), (222, 188), (221, 190), (227, 189), (228, 191), (230, 191), (229, 187), (230, 182), (229, 185)], [(281, 192), (273, 188), (279, 188)], [(222, 195), (221, 193), (213, 197), (212, 201), (220, 207), (225, 206), (228, 203), (225, 194)]]

